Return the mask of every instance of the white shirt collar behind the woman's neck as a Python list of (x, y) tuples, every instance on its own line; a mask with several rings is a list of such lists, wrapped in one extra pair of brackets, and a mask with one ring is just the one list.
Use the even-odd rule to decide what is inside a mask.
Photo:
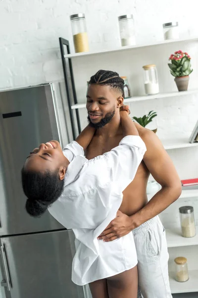
[(65, 186), (72, 183), (75, 179), (78, 173), (80, 172), (82, 166), (85, 164), (85, 162), (88, 159), (82, 155), (77, 155), (68, 165), (67, 171), (65, 174)]

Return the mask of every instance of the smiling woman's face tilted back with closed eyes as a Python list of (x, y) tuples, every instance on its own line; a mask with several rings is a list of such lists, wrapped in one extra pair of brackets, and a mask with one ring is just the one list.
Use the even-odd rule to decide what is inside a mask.
[(43, 173), (46, 170), (53, 172), (64, 167), (66, 161), (68, 160), (63, 155), (59, 142), (49, 141), (30, 152), (24, 169)]

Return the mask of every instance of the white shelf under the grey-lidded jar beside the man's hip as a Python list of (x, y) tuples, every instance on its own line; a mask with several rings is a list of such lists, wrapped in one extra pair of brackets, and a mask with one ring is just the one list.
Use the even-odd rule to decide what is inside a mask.
[(181, 228), (173, 227), (166, 229), (166, 240), (168, 247), (198, 245), (198, 234), (195, 237), (185, 238), (182, 237)]

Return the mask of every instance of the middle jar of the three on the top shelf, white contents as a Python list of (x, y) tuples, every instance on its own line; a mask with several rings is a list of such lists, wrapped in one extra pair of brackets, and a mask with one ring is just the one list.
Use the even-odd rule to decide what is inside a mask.
[(134, 46), (136, 44), (135, 27), (132, 14), (118, 16), (121, 45)]

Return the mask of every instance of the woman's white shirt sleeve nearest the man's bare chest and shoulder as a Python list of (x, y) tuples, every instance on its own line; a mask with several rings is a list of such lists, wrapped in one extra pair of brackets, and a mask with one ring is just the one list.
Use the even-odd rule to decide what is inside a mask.
[(126, 136), (119, 146), (102, 155), (111, 168), (111, 181), (119, 182), (122, 191), (133, 181), (146, 150), (139, 136)]

